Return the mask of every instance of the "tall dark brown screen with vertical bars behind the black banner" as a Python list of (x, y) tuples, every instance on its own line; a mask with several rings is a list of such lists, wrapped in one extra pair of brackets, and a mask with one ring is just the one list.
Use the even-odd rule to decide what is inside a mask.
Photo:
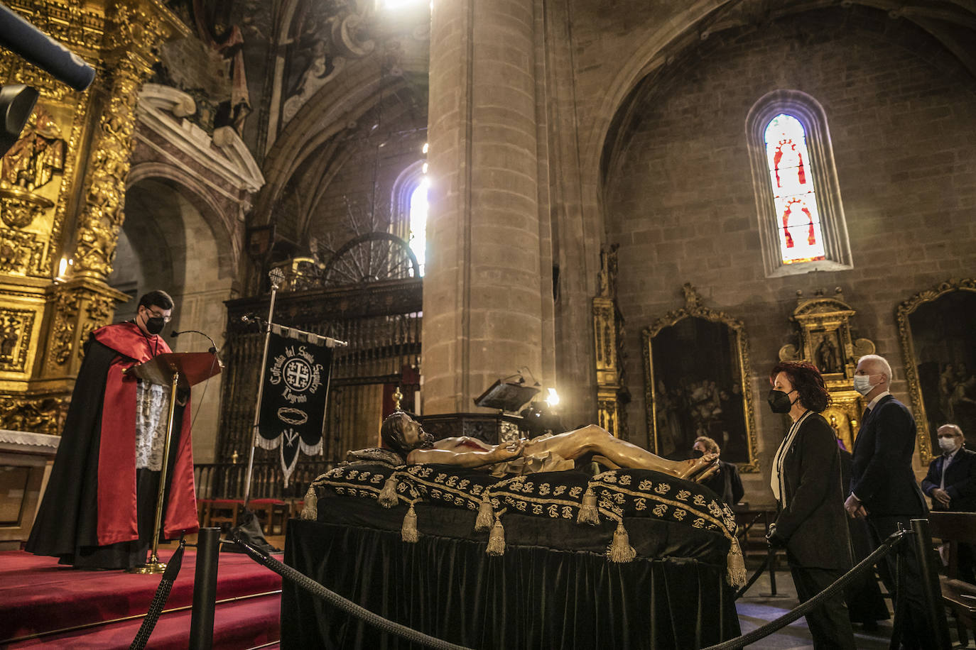
[[(324, 471), (344, 460), (349, 449), (377, 445), (385, 391), (402, 386), (403, 369), (416, 367), (420, 361), (422, 282), (418, 278), (278, 293), (275, 323), (349, 343), (347, 348), (335, 349), (323, 455), (301, 456), (297, 472), (302, 472), (305, 466)], [(264, 334), (255, 331), (254, 325), (242, 323), (240, 318), (247, 314), (266, 318), (267, 304), (267, 295), (226, 303), (223, 355), (226, 370), (222, 382), (218, 463), (213, 470), (208, 470), (214, 476), (207, 477), (207, 489), (213, 492), (213, 497), (231, 497), (243, 481), (237, 478), (240, 470), (236, 468), (246, 467), (253, 438)], [(256, 449), (256, 468), (277, 467), (278, 453), (277, 449)], [(231, 462), (233, 459), (236, 464)], [(268, 489), (274, 484), (281, 485), (280, 467), (268, 469), (267, 473)], [(299, 476), (296, 479), (302, 480)], [(314, 476), (317, 475), (310, 478)], [(257, 490), (258, 480), (256, 476), (255, 495), (261, 494)]]

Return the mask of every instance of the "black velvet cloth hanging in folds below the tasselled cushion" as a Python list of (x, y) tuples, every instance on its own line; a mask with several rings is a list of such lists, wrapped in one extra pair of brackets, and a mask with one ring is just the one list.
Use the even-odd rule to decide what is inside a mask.
[[(455, 643), (671, 649), (739, 634), (725, 582), (728, 542), (714, 531), (625, 517), (638, 556), (617, 564), (604, 554), (613, 521), (590, 527), (509, 513), (505, 554), (492, 556), (468, 510), (417, 504), (420, 539), (406, 544), (405, 506), (333, 497), (317, 508), (319, 521), (289, 521), (286, 563), (387, 619)], [(281, 628), (286, 649), (412, 647), (289, 581)]]

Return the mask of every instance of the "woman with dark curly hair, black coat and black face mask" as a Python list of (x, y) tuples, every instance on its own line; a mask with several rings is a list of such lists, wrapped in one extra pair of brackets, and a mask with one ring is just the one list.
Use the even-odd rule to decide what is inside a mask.
[[(800, 602), (829, 587), (851, 567), (850, 537), (834, 430), (820, 415), (831, 403), (812, 363), (782, 362), (769, 373), (769, 406), (791, 426), (773, 458), (770, 485), (779, 513), (770, 546), (785, 548)], [(847, 607), (829, 598), (806, 616), (815, 648), (854, 648)]]

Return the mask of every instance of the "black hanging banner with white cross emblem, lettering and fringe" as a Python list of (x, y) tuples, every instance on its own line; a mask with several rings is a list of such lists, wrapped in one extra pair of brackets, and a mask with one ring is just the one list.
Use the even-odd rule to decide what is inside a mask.
[[(302, 336), (292, 336), (293, 332)], [(255, 443), (264, 449), (280, 447), (288, 487), (299, 451), (308, 456), (322, 452), (332, 373), (332, 349), (326, 346), (333, 339), (279, 325), (272, 325), (268, 336)]]

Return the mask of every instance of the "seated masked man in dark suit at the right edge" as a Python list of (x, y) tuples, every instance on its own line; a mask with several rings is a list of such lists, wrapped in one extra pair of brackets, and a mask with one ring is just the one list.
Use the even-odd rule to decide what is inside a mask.
[[(962, 445), (965, 438), (955, 424), (944, 424), (938, 431), (942, 455), (928, 466), (921, 491), (932, 498), (932, 510), (951, 513), (976, 513), (976, 451)], [(974, 549), (959, 545), (959, 577), (976, 582), (973, 572)]]

